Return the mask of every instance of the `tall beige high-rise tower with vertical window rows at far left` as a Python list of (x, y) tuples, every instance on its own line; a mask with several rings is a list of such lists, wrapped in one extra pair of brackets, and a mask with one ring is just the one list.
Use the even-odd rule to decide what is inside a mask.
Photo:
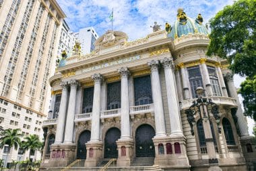
[[(42, 139), (65, 13), (55, 0), (3, 0), (0, 7), (0, 123)], [(11, 150), (7, 158), (8, 151), (0, 150), (5, 162), (28, 157)]]

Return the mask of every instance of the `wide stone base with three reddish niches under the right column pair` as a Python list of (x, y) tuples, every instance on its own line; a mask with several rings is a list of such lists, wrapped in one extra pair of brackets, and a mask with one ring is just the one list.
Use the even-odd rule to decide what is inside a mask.
[[(183, 166), (189, 170), (189, 159), (187, 158), (187, 152), (185, 147), (185, 137), (175, 136), (175, 137), (157, 137), (153, 139), (156, 157), (154, 164), (159, 166)], [(161, 145), (162, 144), (162, 145)], [(168, 149), (167, 144), (171, 144), (171, 150)], [(176, 144), (176, 145), (174, 145)], [(162, 147), (164, 149), (162, 149)], [(174, 148), (174, 146), (179, 146), (179, 148)], [(170, 147), (170, 146), (169, 146)]]

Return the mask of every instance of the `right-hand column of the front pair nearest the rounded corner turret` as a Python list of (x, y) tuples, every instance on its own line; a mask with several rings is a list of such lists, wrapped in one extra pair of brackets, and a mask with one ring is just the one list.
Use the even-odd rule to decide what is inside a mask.
[(181, 127), (179, 101), (177, 99), (178, 93), (175, 89), (176, 80), (174, 77), (174, 65), (172, 58), (164, 58), (161, 60), (161, 63), (164, 66), (164, 76), (166, 82), (168, 111), (170, 116), (170, 136), (181, 135), (183, 137), (184, 135)]

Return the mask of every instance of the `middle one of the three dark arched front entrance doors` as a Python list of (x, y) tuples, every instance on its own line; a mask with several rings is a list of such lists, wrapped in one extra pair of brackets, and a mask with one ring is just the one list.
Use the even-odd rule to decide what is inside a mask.
[(121, 132), (117, 127), (108, 129), (104, 139), (104, 158), (118, 158), (117, 139)]

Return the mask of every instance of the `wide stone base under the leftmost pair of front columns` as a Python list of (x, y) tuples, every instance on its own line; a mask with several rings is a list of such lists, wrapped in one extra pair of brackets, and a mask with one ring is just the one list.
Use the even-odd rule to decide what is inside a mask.
[(41, 167), (65, 167), (75, 160), (75, 144), (51, 145), (49, 162), (43, 162)]

